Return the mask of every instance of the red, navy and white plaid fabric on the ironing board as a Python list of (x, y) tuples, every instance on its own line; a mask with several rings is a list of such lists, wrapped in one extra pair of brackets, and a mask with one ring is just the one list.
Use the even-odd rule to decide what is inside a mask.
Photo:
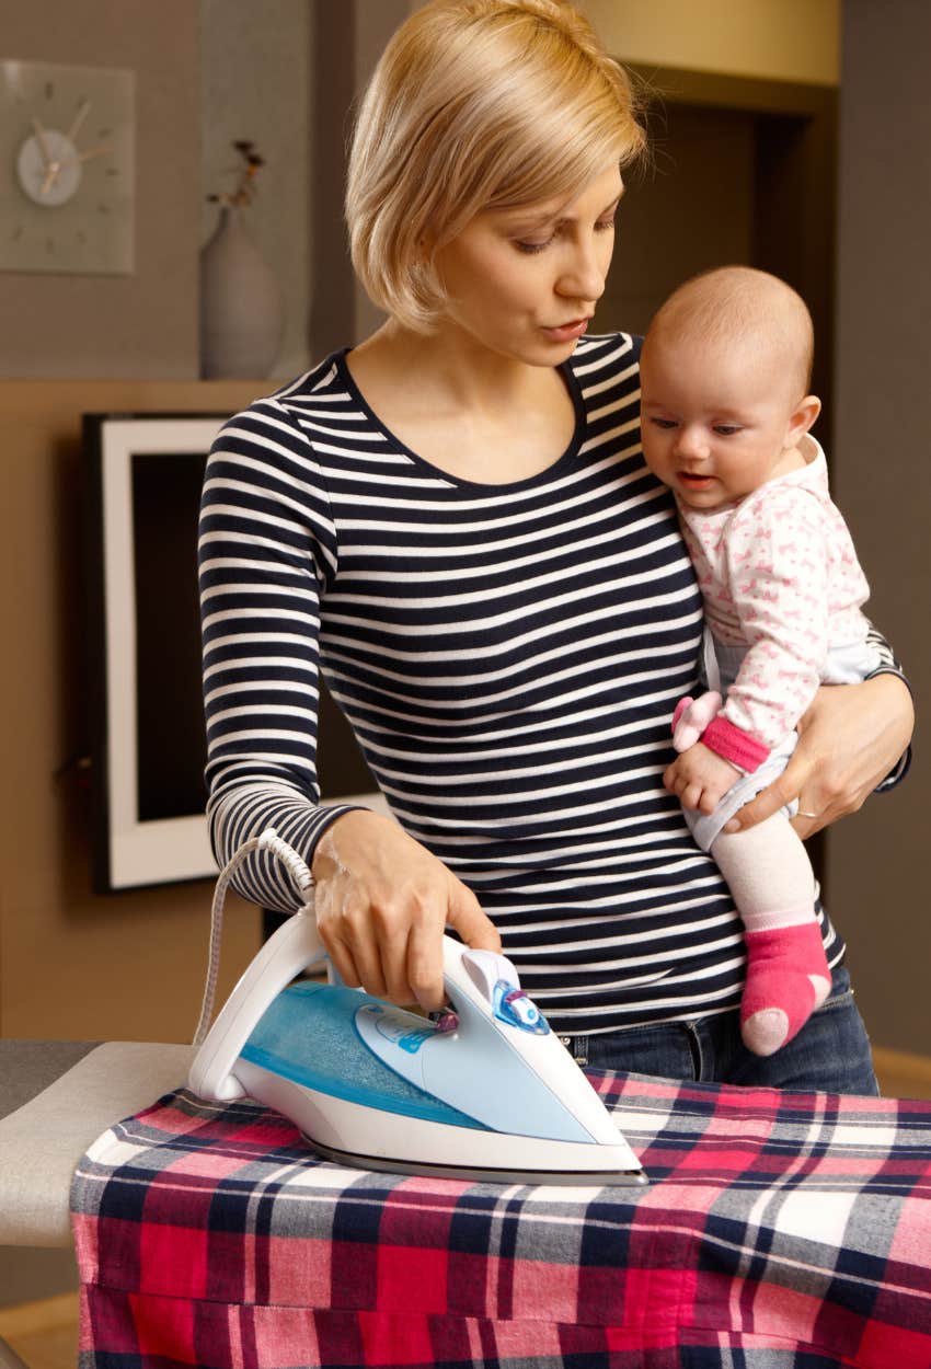
[(593, 1075), (648, 1188), (320, 1162), (178, 1092), (82, 1161), (84, 1369), (928, 1369), (931, 1103)]

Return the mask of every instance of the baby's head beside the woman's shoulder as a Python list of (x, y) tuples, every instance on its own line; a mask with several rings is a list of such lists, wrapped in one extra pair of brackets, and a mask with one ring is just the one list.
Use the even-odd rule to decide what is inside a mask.
[(697, 509), (732, 504), (804, 465), (820, 412), (808, 393), (813, 330), (785, 281), (720, 267), (679, 286), (641, 357), (643, 456)]

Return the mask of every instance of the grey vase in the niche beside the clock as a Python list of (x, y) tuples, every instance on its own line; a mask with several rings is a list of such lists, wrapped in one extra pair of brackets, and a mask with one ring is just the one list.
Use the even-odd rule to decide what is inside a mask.
[(281, 348), (278, 282), (238, 208), (222, 208), (200, 253), (200, 374), (204, 379), (262, 379)]

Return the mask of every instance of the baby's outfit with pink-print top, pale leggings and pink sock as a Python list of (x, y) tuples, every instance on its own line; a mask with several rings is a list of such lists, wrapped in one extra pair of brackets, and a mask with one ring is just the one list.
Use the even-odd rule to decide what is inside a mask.
[[(831, 971), (815, 916), (812, 867), (786, 821), (791, 809), (756, 828), (727, 834), (724, 827), (785, 768), (819, 684), (854, 683), (879, 665), (860, 611), (869, 587), (831, 502), (824, 453), (811, 437), (801, 452), (804, 467), (739, 504), (708, 512), (679, 504), (715, 646), (708, 674), (712, 665), (720, 674), (720, 682), (708, 683), (726, 698), (720, 712), (719, 693), (683, 700), (674, 743), (687, 749), (685, 732), (701, 721), (702, 742), (742, 771), (713, 813), (685, 809), (685, 816), (717, 861), (743, 919), (741, 1034), (758, 1055), (772, 1054), (802, 1028), (827, 997)], [(702, 711), (706, 717), (700, 719)]]

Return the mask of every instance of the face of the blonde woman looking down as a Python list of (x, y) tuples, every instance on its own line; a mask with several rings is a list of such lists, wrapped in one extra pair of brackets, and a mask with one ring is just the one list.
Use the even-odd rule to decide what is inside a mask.
[(439, 334), (528, 366), (564, 361), (604, 293), (622, 193), (612, 166), (572, 200), (478, 214), (437, 253)]

